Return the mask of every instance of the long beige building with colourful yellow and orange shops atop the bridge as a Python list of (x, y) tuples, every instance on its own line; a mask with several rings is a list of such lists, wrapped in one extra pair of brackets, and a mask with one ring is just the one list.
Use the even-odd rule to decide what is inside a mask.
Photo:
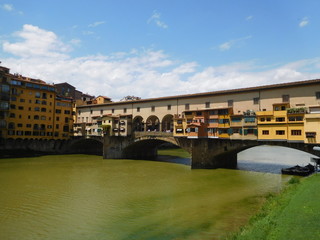
[(320, 143), (320, 80), (80, 106), (76, 121), (121, 114), (132, 116), (132, 131)]

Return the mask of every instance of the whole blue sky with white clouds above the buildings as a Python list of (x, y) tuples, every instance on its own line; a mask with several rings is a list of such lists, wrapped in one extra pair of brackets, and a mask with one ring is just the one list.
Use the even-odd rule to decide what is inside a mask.
[(113, 101), (320, 78), (319, 0), (0, 0), (0, 61)]

